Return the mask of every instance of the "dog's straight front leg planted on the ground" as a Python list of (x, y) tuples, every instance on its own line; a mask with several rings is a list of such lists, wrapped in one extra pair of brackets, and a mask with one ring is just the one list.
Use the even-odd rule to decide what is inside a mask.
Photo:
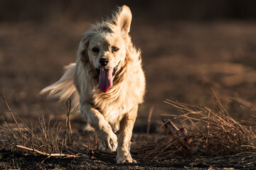
[(117, 146), (117, 164), (136, 163), (130, 153), (130, 140), (132, 129), (137, 118), (138, 106), (129, 111), (120, 122), (118, 146)]

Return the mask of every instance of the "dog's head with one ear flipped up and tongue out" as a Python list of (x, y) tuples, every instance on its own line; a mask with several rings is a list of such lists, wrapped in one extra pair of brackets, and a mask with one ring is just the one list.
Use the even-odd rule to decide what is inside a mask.
[(124, 63), (129, 51), (128, 35), (132, 13), (128, 6), (118, 8), (107, 21), (97, 23), (80, 42), (80, 60), (92, 64), (99, 74), (99, 89), (107, 92), (113, 84), (114, 75)]

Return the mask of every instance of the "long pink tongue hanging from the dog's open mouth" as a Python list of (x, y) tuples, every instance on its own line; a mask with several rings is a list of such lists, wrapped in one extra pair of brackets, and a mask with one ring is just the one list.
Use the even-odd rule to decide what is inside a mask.
[(100, 69), (99, 89), (102, 92), (107, 92), (113, 85), (113, 70), (114, 69)]

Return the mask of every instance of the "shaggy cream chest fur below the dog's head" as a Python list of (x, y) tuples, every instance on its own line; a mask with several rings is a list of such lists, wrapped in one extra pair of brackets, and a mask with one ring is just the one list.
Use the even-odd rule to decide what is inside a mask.
[[(126, 73), (124, 72), (124, 74)], [(107, 93), (97, 89), (97, 84), (94, 84), (95, 90), (92, 92), (91, 102), (102, 113), (105, 120), (110, 123), (113, 131), (119, 129), (119, 122), (123, 116), (129, 113), (132, 108), (137, 107), (138, 103), (143, 100), (144, 79), (139, 78), (141, 74), (144, 75), (142, 68), (139, 65), (137, 69), (129, 69), (129, 74), (132, 76), (125, 77), (123, 81), (114, 84)]]

